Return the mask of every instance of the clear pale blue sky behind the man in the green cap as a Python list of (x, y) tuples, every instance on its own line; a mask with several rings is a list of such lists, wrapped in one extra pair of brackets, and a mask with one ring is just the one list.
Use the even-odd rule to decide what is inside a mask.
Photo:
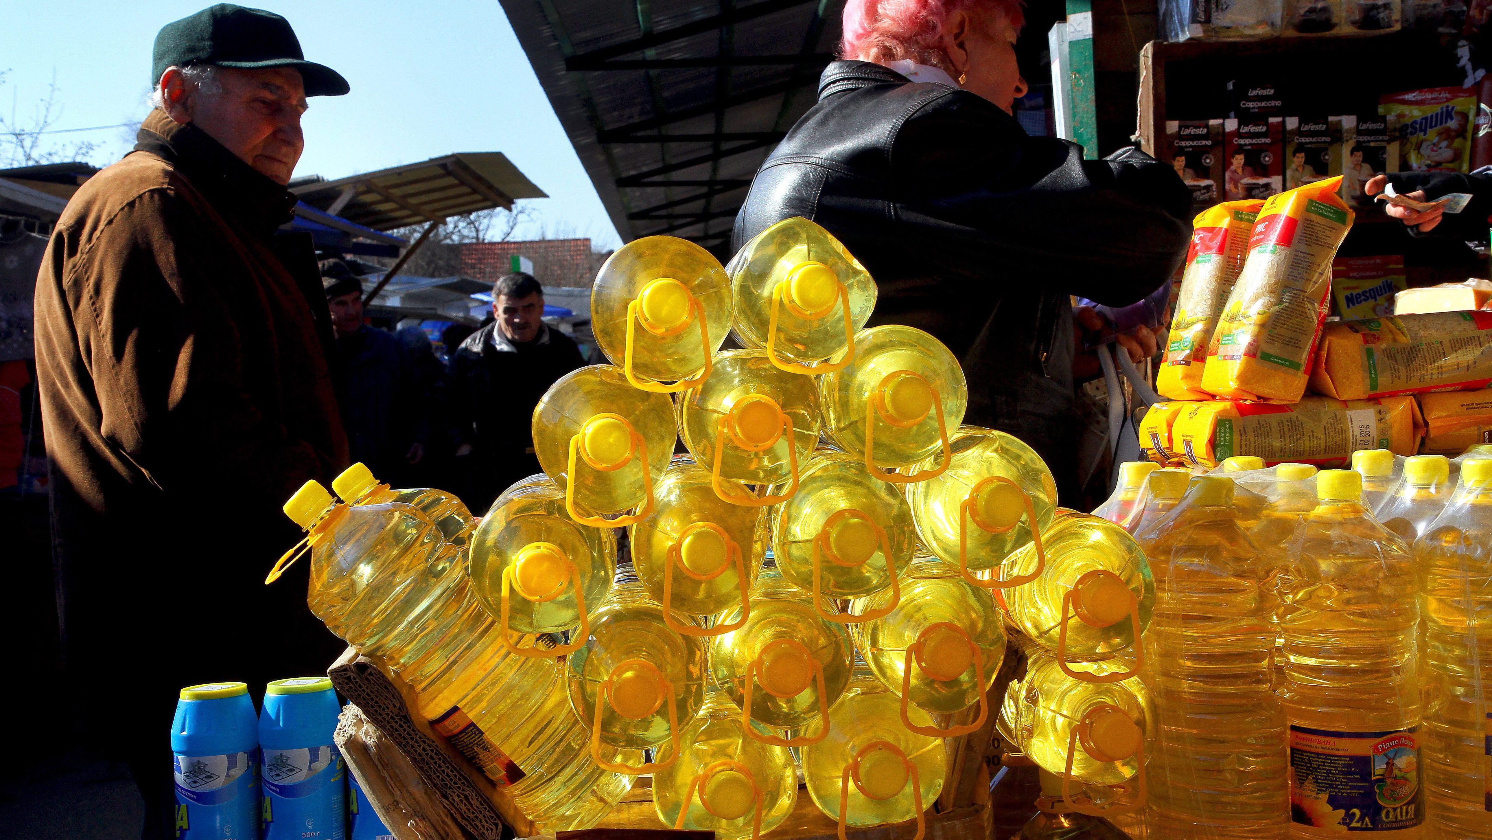
[[(0, 116), (22, 122), (54, 72), (61, 118), (54, 128), (139, 121), (148, 110), (151, 43), (161, 25), (207, 0), (64, 0), (27, 3), (0, 27)], [(621, 243), (568, 137), (549, 107), (497, 0), (312, 0), (246, 3), (285, 15), (306, 58), (352, 84), (345, 97), (315, 97), (304, 118), (306, 154), (295, 175), (342, 178), (449, 152), (506, 154), (549, 194), (531, 201), (537, 221), (519, 239), (589, 236)], [(90, 163), (133, 145), (112, 128), (51, 134), (61, 146), (97, 140)]]

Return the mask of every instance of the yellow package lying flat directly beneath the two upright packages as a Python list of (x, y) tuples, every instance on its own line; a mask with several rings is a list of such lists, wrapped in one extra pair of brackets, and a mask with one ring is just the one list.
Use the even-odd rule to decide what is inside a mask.
[(1414, 397), (1306, 397), (1289, 406), (1217, 400), (1185, 412), (1171, 440), (1198, 467), (1216, 467), (1234, 455), (1258, 455), (1265, 464), (1346, 467), (1358, 449), (1413, 455), (1423, 431)]

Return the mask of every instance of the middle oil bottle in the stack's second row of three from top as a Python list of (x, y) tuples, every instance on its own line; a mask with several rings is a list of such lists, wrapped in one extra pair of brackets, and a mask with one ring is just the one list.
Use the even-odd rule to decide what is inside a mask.
[[(782, 415), (792, 421), (791, 436)], [(679, 397), (679, 431), (694, 460), (712, 471), (722, 448), (724, 479), (791, 482), (792, 458), (801, 470), (819, 439), (819, 392), (812, 379), (773, 367), (761, 351), (725, 351), (710, 376)]]

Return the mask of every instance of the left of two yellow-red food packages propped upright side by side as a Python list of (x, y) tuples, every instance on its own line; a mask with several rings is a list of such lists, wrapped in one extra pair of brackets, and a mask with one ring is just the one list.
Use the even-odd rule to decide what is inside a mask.
[(1192, 219), (1192, 246), (1186, 252), (1182, 292), (1171, 316), (1171, 343), (1155, 379), (1155, 389), (1171, 400), (1210, 400), (1201, 389), (1207, 345), (1222, 304), (1243, 270), (1249, 231), (1264, 201), (1225, 201)]

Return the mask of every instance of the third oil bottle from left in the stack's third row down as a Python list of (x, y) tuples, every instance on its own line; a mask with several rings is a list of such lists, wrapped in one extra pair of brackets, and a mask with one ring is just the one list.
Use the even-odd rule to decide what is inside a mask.
[(874, 613), (840, 613), (830, 598), (889, 589), (889, 606), (895, 604), (897, 577), (912, 562), (915, 545), (916, 527), (901, 491), (867, 473), (847, 452), (815, 454), (798, 492), (776, 512), (773, 554), (783, 579), (812, 592), (818, 613), (840, 624), (870, 621)]

